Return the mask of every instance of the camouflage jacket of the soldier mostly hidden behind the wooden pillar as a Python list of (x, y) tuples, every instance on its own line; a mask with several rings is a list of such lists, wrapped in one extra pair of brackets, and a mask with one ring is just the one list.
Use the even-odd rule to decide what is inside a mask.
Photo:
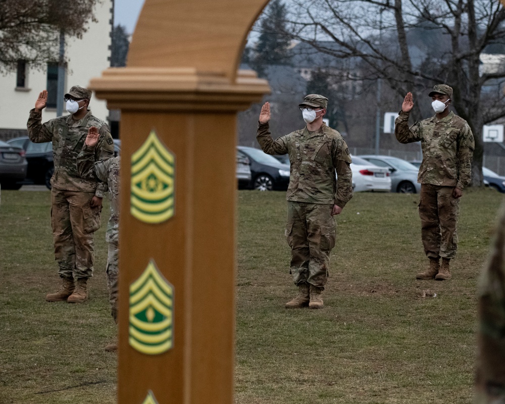
[(107, 223), (105, 239), (107, 242), (119, 240), (119, 167), (120, 157), (95, 162), (95, 147), (84, 145), (77, 156), (77, 170), (85, 179), (98, 179), (109, 188), (111, 198), (111, 217)]

